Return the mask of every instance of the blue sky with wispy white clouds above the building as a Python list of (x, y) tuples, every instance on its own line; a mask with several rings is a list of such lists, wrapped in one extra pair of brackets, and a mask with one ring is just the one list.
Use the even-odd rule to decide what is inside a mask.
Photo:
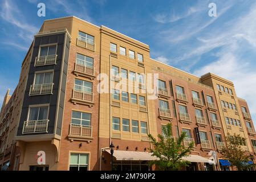
[[(37, 5), (46, 5), (46, 17)], [(216, 3), (217, 17), (208, 15)], [(151, 47), (151, 57), (201, 76), (232, 80), (256, 121), (256, 2), (0, 0), (0, 102), (19, 80), (21, 63), (45, 19), (75, 15)], [(255, 125), (255, 124), (254, 124)]]

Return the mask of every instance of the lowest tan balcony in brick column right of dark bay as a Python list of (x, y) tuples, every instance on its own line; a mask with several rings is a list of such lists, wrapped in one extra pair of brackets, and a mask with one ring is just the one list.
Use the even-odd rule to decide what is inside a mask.
[(92, 141), (92, 126), (70, 124), (70, 133), (68, 139), (73, 140), (84, 140), (88, 143)]

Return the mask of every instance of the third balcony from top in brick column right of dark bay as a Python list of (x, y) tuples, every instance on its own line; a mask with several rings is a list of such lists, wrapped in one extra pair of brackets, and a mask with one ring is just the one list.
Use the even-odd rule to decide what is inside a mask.
[(74, 88), (71, 102), (73, 102), (74, 104), (84, 104), (91, 107), (92, 105), (94, 105), (94, 93)]

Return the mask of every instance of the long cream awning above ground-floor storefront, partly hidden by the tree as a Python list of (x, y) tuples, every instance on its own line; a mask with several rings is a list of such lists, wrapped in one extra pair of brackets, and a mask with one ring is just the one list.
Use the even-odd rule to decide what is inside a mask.
[[(104, 151), (111, 154), (110, 150)], [(113, 156), (116, 158), (116, 160), (159, 160), (159, 158), (152, 156), (152, 153), (149, 152), (115, 150)], [(189, 155), (182, 159), (194, 163), (213, 163), (212, 160), (203, 158), (199, 155)]]

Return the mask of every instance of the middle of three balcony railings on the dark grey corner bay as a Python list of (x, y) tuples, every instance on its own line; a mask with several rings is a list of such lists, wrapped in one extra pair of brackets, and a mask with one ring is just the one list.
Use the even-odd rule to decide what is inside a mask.
[(30, 96), (52, 94), (54, 83), (30, 85)]

